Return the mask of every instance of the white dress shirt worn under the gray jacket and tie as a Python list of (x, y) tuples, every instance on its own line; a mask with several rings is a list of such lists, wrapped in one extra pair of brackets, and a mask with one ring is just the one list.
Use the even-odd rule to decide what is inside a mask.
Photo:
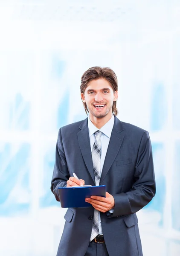
[[(114, 125), (114, 115), (112, 115), (111, 119), (102, 126), (101, 129), (98, 129), (93, 123), (91, 122), (90, 118), (88, 117), (88, 128), (89, 128), (89, 136), (90, 136), (90, 148), (92, 151), (93, 145), (95, 143), (95, 135), (94, 133), (96, 131), (101, 131), (103, 134), (101, 136), (101, 168), (100, 168), (100, 176), (102, 174), (102, 168), (105, 162), (105, 157), (107, 153), (107, 148), (110, 141), (111, 132), (113, 130)], [(110, 210), (110, 212), (113, 212), (113, 210)], [(101, 217), (99, 212), (99, 234), (102, 235), (102, 226), (101, 226)]]

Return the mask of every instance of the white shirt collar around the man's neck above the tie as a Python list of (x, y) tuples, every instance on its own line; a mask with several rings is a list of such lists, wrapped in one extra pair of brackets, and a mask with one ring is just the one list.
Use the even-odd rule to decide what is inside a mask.
[(105, 134), (108, 138), (110, 138), (111, 132), (113, 130), (114, 125), (114, 115), (112, 115), (111, 119), (102, 126), (101, 129), (98, 129), (90, 120), (90, 117), (88, 116), (88, 128), (89, 128), (89, 136), (93, 135), (95, 131), (102, 131), (103, 134)]

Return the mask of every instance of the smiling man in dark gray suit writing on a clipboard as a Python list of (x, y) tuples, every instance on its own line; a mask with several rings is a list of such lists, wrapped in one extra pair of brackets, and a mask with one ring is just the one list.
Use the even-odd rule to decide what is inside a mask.
[(51, 190), (57, 201), (58, 187), (106, 185), (107, 192), (86, 198), (90, 207), (67, 209), (57, 256), (142, 256), (136, 212), (155, 195), (149, 134), (117, 119), (110, 68), (88, 69), (80, 90), (89, 116), (60, 128)]

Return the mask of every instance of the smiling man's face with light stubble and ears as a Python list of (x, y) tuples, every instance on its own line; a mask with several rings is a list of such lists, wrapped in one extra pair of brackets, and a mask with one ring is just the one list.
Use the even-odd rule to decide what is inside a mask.
[(87, 104), (90, 116), (102, 118), (112, 116), (113, 102), (117, 100), (117, 91), (113, 93), (110, 83), (105, 79), (92, 80), (81, 98)]

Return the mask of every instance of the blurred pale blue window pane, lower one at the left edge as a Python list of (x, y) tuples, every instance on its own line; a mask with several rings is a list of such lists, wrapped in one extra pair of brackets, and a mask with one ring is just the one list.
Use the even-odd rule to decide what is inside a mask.
[(6, 143), (0, 152), (0, 215), (28, 212), (30, 145), (23, 143), (17, 149)]

